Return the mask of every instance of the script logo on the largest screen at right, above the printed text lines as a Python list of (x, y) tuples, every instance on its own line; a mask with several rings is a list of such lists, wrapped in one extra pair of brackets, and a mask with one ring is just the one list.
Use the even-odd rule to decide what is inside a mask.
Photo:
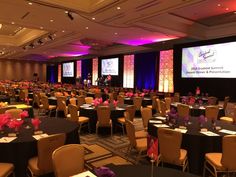
[(198, 63), (214, 63), (216, 61), (216, 51), (213, 49), (201, 50), (198, 54)]

